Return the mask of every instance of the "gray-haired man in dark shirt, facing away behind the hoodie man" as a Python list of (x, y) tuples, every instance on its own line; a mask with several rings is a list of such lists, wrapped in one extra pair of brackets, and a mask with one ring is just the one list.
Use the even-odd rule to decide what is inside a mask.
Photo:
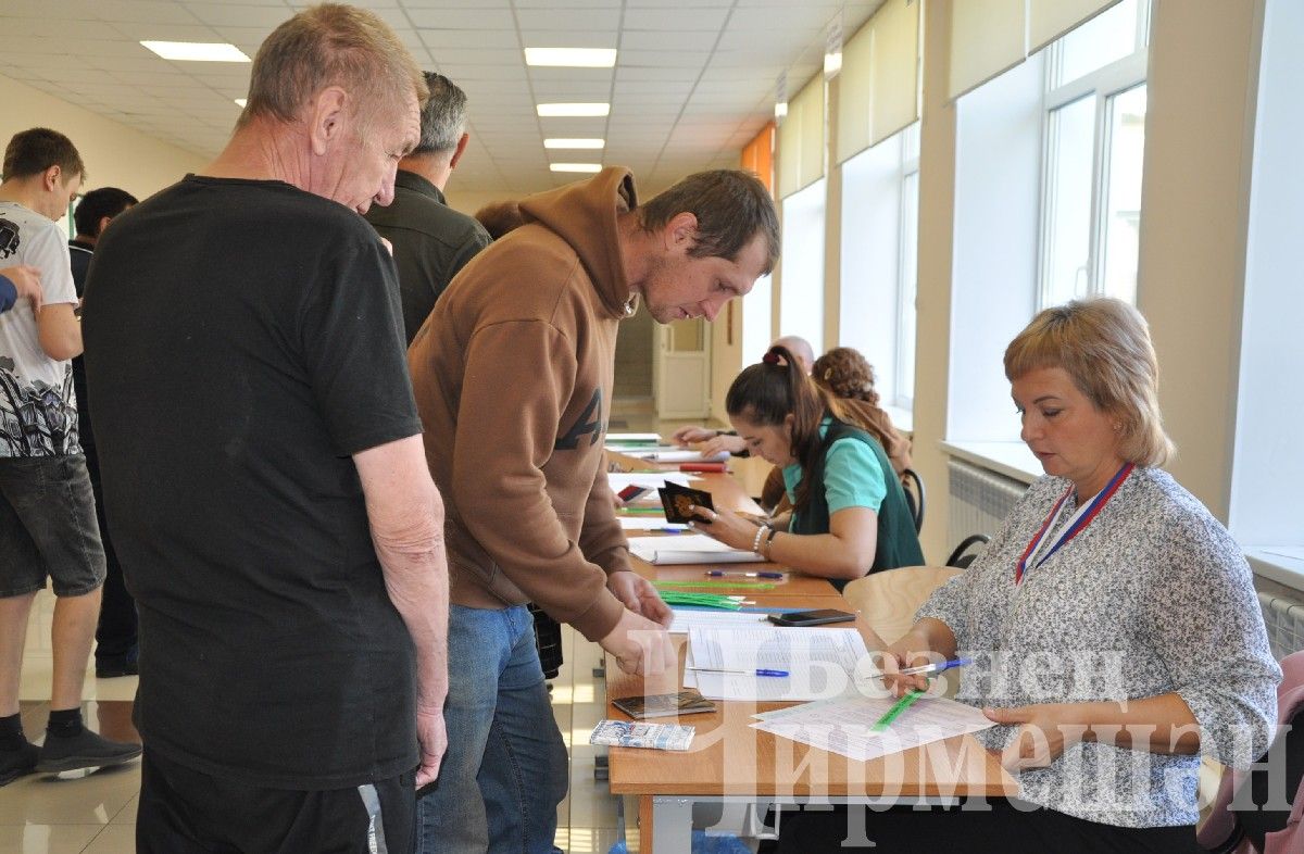
[(484, 226), (443, 198), (467, 150), (467, 94), (433, 72), (425, 73), (425, 85), (430, 100), (421, 110), (421, 142), (399, 162), (394, 202), (366, 213), (366, 220), (394, 246), (408, 343), (452, 276), (490, 243)]

